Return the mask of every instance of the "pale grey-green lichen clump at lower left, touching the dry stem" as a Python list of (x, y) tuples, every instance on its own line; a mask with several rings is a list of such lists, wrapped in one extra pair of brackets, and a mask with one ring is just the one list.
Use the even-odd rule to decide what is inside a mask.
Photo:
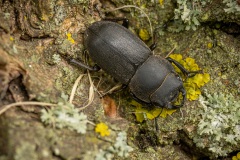
[(87, 116), (79, 113), (73, 104), (67, 102), (59, 102), (57, 107), (42, 110), (41, 120), (47, 125), (57, 128), (68, 128), (78, 133), (86, 133)]

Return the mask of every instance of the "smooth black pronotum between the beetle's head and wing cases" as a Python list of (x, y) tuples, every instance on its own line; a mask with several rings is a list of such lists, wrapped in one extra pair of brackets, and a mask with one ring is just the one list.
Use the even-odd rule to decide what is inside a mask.
[[(132, 77), (129, 88), (138, 99), (151, 103), (150, 96), (162, 85), (168, 74), (173, 72), (174, 68), (166, 59), (150, 56)], [(166, 90), (168, 88), (161, 91)]]

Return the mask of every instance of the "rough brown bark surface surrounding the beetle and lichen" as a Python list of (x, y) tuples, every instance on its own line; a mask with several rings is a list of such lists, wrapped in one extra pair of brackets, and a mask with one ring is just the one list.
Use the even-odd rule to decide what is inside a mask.
[[(171, 28), (176, 4), (164, 2), (164, 8), (159, 2), (127, 3), (145, 7), (154, 28), (167, 22)], [(92, 22), (101, 19), (95, 4), (103, 11), (126, 5), (126, 2), (0, 0), (0, 109), (7, 104), (30, 100), (57, 103), (62, 93), (70, 95), (75, 80), (85, 71), (68, 64), (66, 59), (82, 58), (83, 33)], [(211, 81), (205, 86), (208, 92), (231, 93), (239, 99), (240, 16), (227, 14), (224, 7), (216, 0), (211, 1), (204, 8), (205, 14), (199, 18), (202, 25), (196, 31), (172, 33), (165, 30), (158, 39), (155, 54), (165, 56), (176, 47), (176, 53), (193, 57), (211, 75)], [(128, 16), (132, 22), (130, 29), (137, 32), (149, 26), (146, 18), (139, 15), (142, 14), (134, 9), (124, 9), (107, 16)], [(209, 43), (214, 46), (209, 47)], [(92, 77), (100, 91), (105, 92), (116, 84), (103, 71), (92, 73)], [(89, 85), (88, 78), (84, 77), (73, 102), (76, 106), (85, 104)], [(100, 150), (112, 145), (119, 131), (128, 133), (128, 144), (134, 148), (128, 159), (214, 159), (218, 156), (207, 149), (211, 142), (206, 138), (202, 138), (206, 141), (204, 149), (193, 141), (199, 138), (196, 136), (201, 119), (197, 116), (201, 109), (198, 101), (188, 101), (181, 112), (159, 118), (160, 131), (155, 132), (153, 121), (136, 123), (132, 114), (134, 107), (129, 103), (131, 98), (123, 91), (101, 100), (96, 92), (93, 103), (84, 110), (90, 121), (104, 121), (110, 126), (112, 134), (107, 138), (97, 136), (92, 125), (88, 126), (86, 134), (45, 126), (40, 120), (43, 108), (40, 106), (11, 108), (0, 115), (0, 160), (94, 159)], [(240, 151), (227, 147), (229, 153), (225, 159)], [(115, 155), (115, 159), (126, 158)]]

